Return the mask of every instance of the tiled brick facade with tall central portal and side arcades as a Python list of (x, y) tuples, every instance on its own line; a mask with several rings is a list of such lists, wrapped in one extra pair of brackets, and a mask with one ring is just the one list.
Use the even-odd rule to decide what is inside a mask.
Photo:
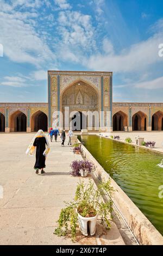
[[(163, 130), (163, 103), (112, 103), (112, 72), (48, 71), (48, 103), (0, 103), (0, 131), (32, 132), (46, 122), (48, 129), (53, 113), (64, 116), (65, 107), (106, 113), (99, 118), (105, 131)], [(59, 126), (65, 127), (60, 120)]]

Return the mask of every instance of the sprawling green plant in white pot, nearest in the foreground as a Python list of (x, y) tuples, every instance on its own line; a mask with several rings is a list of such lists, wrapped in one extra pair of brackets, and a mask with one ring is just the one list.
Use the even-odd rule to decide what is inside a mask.
[[(101, 223), (106, 229), (110, 228), (110, 218), (112, 217), (112, 193), (114, 189), (110, 185), (111, 180), (102, 182), (98, 187), (91, 180), (88, 184), (84, 182), (77, 185), (76, 194), (72, 202), (66, 203), (66, 208), (60, 212), (58, 227), (54, 234), (66, 236), (68, 226), (71, 228), (72, 241), (76, 240), (77, 222), (83, 235), (88, 235), (87, 224), (90, 235), (96, 233), (97, 217), (101, 218)], [(107, 202), (103, 202), (102, 197), (109, 196)]]

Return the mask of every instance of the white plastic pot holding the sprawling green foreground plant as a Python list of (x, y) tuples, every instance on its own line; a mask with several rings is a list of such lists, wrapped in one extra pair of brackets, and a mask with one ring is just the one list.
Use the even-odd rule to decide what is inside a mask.
[(95, 235), (97, 216), (85, 218), (78, 214), (79, 228), (83, 235), (88, 235), (87, 227), (89, 227), (90, 235)]

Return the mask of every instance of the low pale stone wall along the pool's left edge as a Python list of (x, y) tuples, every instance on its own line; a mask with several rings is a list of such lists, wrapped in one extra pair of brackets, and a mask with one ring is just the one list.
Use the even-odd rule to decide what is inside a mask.
[[(95, 163), (97, 177), (102, 180), (109, 179), (109, 174), (105, 172), (84, 145), (82, 145), (82, 150), (84, 157)], [(113, 179), (111, 179), (111, 185), (116, 190), (112, 198), (113, 202), (123, 215), (140, 245), (163, 245), (163, 236)]]

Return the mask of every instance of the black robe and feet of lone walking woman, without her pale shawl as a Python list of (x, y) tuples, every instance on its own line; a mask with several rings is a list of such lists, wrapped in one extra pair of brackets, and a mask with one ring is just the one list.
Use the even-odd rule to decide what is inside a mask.
[(36, 169), (36, 174), (39, 173), (39, 169), (41, 169), (41, 174), (43, 174), (45, 173), (43, 168), (46, 167), (46, 157), (43, 155), (47, 145), (46, 138), (43, 136), (36, 137), (33, 145), (36, 147), (36, 162), (34, 169)]

